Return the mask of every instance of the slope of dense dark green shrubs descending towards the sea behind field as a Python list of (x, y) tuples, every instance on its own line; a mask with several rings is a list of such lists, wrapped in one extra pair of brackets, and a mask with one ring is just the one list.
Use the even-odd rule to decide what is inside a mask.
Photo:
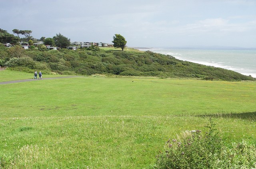
[(114, 74), (120, 76), (156, 76), (165, 78), (205, 78), (240, 81), (254, 80), (234, 71), (181, 61), (154, 52), (122, 52), (100, 50), (23, 50), (0, 46), (0, 65), (26, 72), (40, 70), (44, 74)]

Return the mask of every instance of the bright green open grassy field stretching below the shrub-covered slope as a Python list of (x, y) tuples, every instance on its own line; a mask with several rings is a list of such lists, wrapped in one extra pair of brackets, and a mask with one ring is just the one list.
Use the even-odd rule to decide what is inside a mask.
[(256, 143), (255, 82), (81, 76), (0, 90), (1, 168), (148, 168), (165, 141), (204, 131), (209, 117), (227, 145)]

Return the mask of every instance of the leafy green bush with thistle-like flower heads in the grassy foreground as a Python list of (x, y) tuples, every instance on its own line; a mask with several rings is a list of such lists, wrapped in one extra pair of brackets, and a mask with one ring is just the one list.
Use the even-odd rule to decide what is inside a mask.
[(246, 141), (233, 143), (231, 148), (224, 145), (214, 128), (212, 119), (200, 130), (185, 132), (180, 139), (169, 139), (166, 151), (157, 157), (154, 169), (238, 169), (256, 168), (256, 146)]

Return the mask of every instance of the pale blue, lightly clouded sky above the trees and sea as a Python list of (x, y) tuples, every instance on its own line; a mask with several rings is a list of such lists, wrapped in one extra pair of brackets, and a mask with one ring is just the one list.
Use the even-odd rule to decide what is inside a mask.
[(110, 44), (121, 34), (128, 47), (256, 48), (256, 0), (1, 0), (0, 28)]

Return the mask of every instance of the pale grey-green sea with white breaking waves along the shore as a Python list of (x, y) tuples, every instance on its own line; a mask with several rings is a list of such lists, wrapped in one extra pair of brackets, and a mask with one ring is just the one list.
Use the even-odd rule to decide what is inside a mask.
[(139, 49), (171, 55), (178, 60), (232, 70), (256, 78), (256, 50), (244, 49)]

